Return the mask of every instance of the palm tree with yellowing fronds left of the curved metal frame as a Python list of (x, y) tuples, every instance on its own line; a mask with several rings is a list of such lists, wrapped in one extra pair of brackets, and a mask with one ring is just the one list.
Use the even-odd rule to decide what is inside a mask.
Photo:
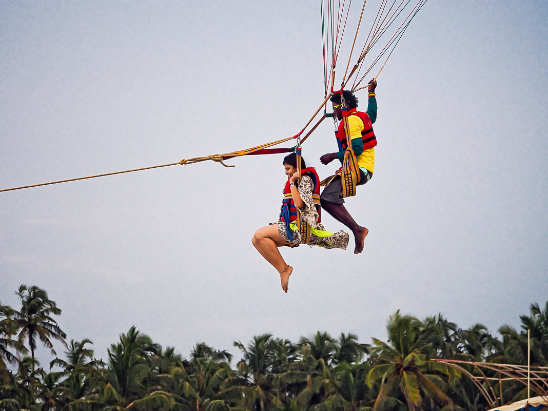
[(426, 400), (450, 406), (452, 401), (441, 388), (444, 381), (439, 374), (456, 376), (456, 373), (427, 359), (427, 353), (433, 348), (428, 343), (431, 335), (424, 332), (424, 324), (414, 317), (402, 316), (398, 310), (390, 316), (386, 328), (391, 345), (373, 339), (375, 365), (367, 376), (369, 387), (381, 379), (373, 410), (380, 409), (392, 392), (404, 398), (409, 411), (424, 409), (421, 408), (423, 395)]

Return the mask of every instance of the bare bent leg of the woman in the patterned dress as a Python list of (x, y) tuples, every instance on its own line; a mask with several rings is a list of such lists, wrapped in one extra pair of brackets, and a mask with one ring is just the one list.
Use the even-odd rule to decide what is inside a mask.
[(279, 253), (278, 247), (286, 244), (286, 240), (279, 235), (278, 226), (276, 224), (261, 227), (255, 231), (251, 240), (255, 248), (270, 262), (272, 266), (279, 272), (279, 277), (282, 282), (282, 289), (287, 293), (289, 288), (289, 276), (293, 272), (293, 267), (286, 264), (282, 254)]

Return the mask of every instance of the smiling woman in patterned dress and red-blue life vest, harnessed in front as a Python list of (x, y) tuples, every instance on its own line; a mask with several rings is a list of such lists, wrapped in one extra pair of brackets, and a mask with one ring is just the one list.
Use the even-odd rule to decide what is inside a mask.
[(294, 247), (294, 244), (301, 244), (300, 233), (295, 224), (295, 216), (292, 215), (294, 213), (290, 212), (293, 205), (299, 209), (299, 213), (311, 227), (310, 246), (346, 250), (349, 235), (344, 231), (337, 231), (336, 233), (325, 231), (323, 225), (319, 223), (320, 209), (312, 199), (312, 192), (319, 184), (315, 170), (313, 168), (306, 169), (304, 159), (301, 158), (302, 176), (299, 182), (295, 153), (283, 159), (283, 167), (286, 170), (288, 181), (284, 189), (284, 203), (282, 204), (280, 219), (277, 224), (270, 224), (255, 231), (252, 243), (266, 261), (278, 270), (282, 289), (287, 293), (289, 276), (293, 272), (293, 267), (286, 264), (286, 261), (279, 253), (278, 247), (286, 245)]

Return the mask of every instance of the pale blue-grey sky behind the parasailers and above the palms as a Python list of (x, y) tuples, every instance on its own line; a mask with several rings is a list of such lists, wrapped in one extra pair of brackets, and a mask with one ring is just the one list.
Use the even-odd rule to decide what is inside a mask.
[[(283, 249), (286, 295), (250, 243), (283, 156), (176, 165), (0, 193), (0, 300), (44, 288), (102, 357), (133, 324), (183, 355), (265, 332), (368, 343), (398, 309), (517, 326), (548, 299), (548, 3), (519, 4), (430, 0), (410, 25), (378, 79), (374, 178), (347, 202), (363, 254)], [(319, 2), (0, 3), (0, 189), (244, 149), (322, 100)], [(322, 177), (332, 130), (303, 147)]]

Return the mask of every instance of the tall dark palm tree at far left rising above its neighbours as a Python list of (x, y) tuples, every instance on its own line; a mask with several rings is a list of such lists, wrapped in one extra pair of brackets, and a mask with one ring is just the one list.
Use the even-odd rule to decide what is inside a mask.
[[(60, 315), (55, 301), (48, 299), (48, 293), (37, 286), (21, 285), (15, 293), (21, 300), (21, 311), (13, 311), (14, 321), (19, 329), (18, 341), (28, 341), (31, 357), (35, 359), (36, 338), (52, 350), (55, 355), (51, 339), (59, 340), (66, 346), (66, 334), (58, 326), (52, 315)], [(34, 367), (34, 363), (32, 365)], [(33, 369), (34, 371), (34, 369)]]

